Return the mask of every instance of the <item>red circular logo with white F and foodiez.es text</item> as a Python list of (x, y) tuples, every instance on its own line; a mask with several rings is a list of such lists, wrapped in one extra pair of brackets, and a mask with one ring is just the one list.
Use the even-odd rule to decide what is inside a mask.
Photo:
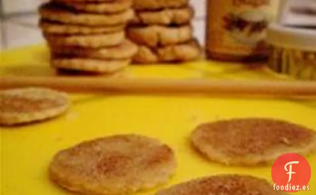
[(271, 171), (273, 188), (276, 191), (295, 193), (309, 191), (312, 176), (310, 163), (300, 154), (288, 153), (280, 156)]

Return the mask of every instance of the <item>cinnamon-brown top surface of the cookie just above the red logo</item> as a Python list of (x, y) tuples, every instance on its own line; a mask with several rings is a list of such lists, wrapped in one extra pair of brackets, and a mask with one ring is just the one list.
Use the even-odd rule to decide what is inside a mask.
[(316, 133), (300, 125), (269, 119), (237, 119), (200, 126), (195, 135), (230, 155), (263, 154), (280, 146), (307, 144)]

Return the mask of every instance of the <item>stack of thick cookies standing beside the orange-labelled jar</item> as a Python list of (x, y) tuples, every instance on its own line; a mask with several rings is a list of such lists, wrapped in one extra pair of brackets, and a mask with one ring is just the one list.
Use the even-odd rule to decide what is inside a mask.
[(134, 0), (135, 17), (127, 37), (139, 45), (137, 64), (187, 62), (201, 56), (193, 37), (193, 8), (188, 0)]

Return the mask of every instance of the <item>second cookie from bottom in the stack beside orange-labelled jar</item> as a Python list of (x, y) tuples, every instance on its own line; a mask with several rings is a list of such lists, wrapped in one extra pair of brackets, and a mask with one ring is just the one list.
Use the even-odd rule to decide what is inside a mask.
[(133, 26), (127, 28), (127, 37), (138, 45), (159, 47), (185, 43), (192, 39), (193, 30), (190, 25), (171, 26)]

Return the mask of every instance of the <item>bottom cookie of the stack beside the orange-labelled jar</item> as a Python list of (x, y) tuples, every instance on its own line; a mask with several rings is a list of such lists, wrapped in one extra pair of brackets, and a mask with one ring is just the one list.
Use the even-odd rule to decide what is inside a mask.
[(195, 40), (154, 49), (140, 46), (138, 53), (133, 57), (133, 62), (136, 64), (189, 62), (199, 59), (201, 53), (201, 47)]

